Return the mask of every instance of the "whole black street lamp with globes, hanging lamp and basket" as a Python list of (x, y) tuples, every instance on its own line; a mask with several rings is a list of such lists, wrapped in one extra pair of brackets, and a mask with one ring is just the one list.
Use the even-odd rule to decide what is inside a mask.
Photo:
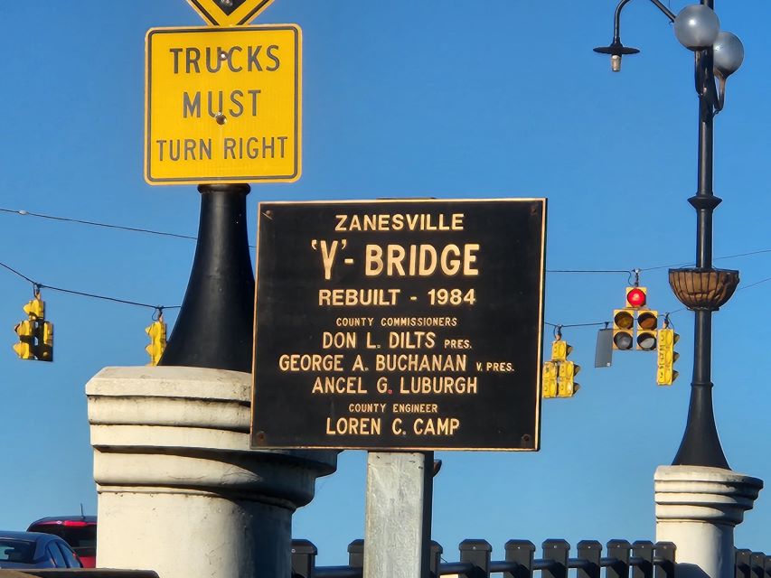
[[(629, 1), (621, 0), (616, 7), (613, 42), (595, 49), (610, 54), (614, 71), (621, 70), (622, 56), (638, 52), (625, 47), (620, 39), (621, 10)], [(695, 314), (691, 401), (685, 433), (672, 465), (729, 470), (712, 407), (712, 312), (728, 302), (736, 291), (738, 271), (712, 266), (712, 213), (720, 203), (719, 197), (712, 191), (713, 137), (714, 117), (725, 101), (726, 79), (738, 70), (744, 50), (736, 36), (719, 32), (713, 0), (686, 6), (677, 16), (658, 0), (651, 2), (674, 23), (678, 41), (695, 52), (696, 91), (699, 96), (698, 189), (688, 200), (696, 210), (696, 266), (670, 269), (669, 272), (672, 291)]]

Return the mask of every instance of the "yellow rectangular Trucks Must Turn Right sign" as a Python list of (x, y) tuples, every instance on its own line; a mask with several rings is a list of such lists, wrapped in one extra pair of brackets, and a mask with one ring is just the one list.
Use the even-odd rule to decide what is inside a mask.
[(145, 92), (150, 184), (300, 177), (302, 34), (295, 24), (151, 29)]

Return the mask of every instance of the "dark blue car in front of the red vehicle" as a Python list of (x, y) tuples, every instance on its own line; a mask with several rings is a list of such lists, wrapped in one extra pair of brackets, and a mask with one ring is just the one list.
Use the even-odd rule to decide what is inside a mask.
[(69, 544), (40, 532), (0, 531), (0, 568), (81, 568)]

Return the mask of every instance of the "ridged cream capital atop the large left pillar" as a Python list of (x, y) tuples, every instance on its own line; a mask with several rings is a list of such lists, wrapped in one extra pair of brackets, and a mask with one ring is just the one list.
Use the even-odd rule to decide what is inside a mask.
[(104, 368), (86, 396), (99, 491), (230, 492), (294, 509), (334, 471), (336, 452), (249, 448), (248, 373)]

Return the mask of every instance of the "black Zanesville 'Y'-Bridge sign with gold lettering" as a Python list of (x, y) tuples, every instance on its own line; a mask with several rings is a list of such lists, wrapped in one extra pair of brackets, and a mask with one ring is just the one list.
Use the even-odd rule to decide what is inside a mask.
[(545, 201), (261, 203), (254, 447), (537, 450)]

